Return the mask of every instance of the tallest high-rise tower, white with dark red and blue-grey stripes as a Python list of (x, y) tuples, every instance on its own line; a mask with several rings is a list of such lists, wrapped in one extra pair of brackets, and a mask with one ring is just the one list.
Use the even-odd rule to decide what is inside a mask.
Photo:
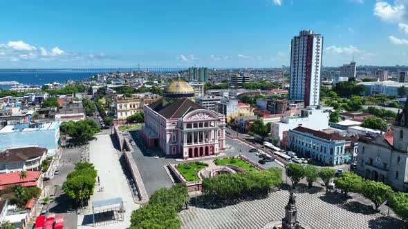
[(306, 106), (319, 105), (320, 68), (323, 37), (313, 30), (302, 30), (292, 39), (290, 52), (289, 98), (304, 100)]

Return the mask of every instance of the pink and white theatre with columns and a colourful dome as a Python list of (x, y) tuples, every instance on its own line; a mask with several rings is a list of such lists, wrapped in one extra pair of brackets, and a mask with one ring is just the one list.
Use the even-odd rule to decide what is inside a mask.
[(225, 116), (189, 98), (194, 88), (179, 79), (165, 88), (163, 99), (145, 105), (142, 138), (150, 148), (183, 159), (218, 155), (225, 149)]

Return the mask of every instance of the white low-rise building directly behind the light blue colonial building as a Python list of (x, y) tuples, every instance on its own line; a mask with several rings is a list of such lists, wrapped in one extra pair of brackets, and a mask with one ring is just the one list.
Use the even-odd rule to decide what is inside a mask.
[(313, 130), (322, 130), (328, 128), (329, 113), (326, 108), (304, 108), (301, 110), (300, 117), (281, 117), (281, 121), (270, 123), (270, 134), (272, 139), (283, 139), (285, 131), (303, 126)]

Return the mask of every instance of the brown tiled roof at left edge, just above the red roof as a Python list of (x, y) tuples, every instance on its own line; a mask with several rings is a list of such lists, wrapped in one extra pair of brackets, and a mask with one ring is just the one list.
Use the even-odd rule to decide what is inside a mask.
[(15, 163), (27, 161), (27, 159), (40, 157), (47, 152), (46, 148), (25, 147), (4, 150), (0, 152), (0, 163)]

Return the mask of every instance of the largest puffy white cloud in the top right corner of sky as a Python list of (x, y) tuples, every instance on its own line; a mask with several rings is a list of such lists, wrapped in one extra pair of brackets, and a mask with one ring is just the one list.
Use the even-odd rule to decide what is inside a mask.
[(378, 1), (377, 3), (375, 3), (373, 14), (374, 16), (380, 17), (382, 21), (404, 21), (404, 18), (407, 14), (405, 1), (395, 1), (394, 6), (391, 6), (391, 4), (387, 3), (386, 1)]

